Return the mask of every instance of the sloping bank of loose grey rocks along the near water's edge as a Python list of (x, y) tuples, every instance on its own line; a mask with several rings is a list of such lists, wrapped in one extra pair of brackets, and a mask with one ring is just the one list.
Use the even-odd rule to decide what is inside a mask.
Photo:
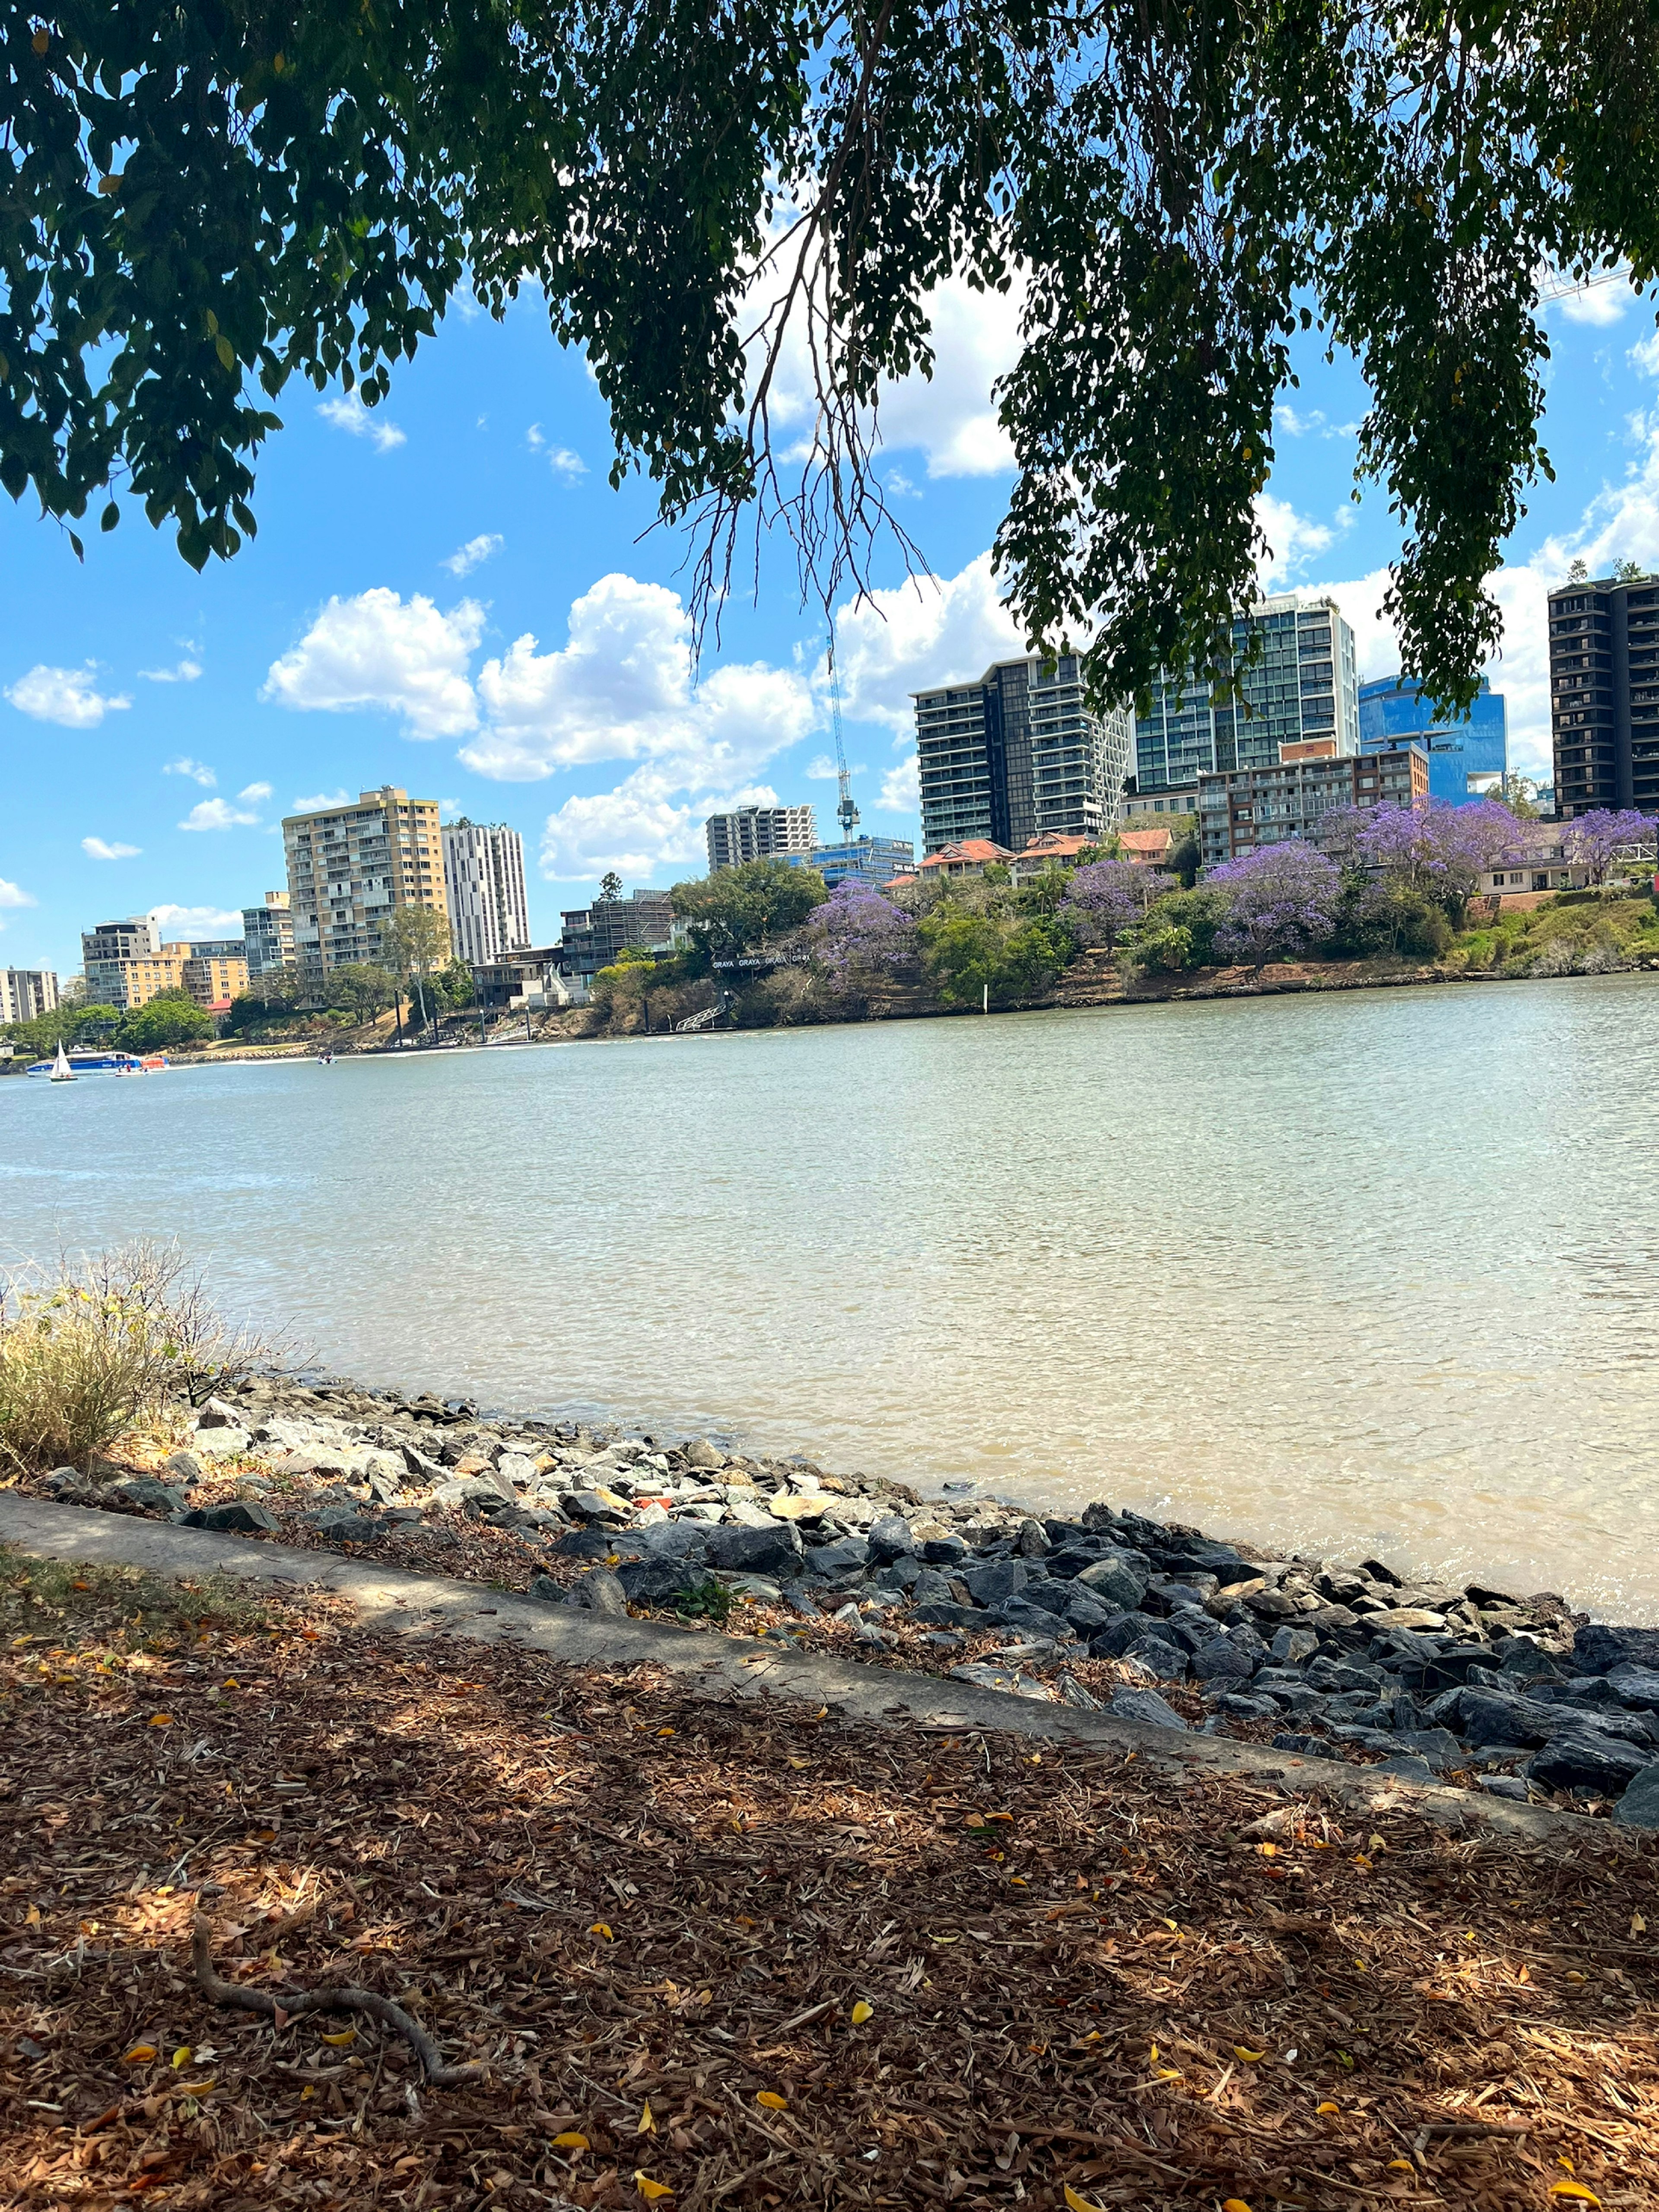
[(1553, 1593), (270, 1378), (29, 1486), (1659, 1827), (1659, 1630)]

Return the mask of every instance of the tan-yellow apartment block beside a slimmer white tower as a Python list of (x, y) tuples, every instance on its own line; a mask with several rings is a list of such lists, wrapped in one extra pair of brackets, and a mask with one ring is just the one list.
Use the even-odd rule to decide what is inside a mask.
[(290, 814), (283, 849), (301, 980), (380, 960), (398, 907), (431, 907), (449, 918), (436, 799), (409, 799), (387, 783), (356, 805)]

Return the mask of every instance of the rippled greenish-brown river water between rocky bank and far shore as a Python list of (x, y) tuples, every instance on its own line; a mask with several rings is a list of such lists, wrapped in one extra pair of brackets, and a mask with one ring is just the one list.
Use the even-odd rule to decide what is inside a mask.
[(327, 1365), (1659, 1619), (1659, 991), (0, 1084), (0, 1250)]

